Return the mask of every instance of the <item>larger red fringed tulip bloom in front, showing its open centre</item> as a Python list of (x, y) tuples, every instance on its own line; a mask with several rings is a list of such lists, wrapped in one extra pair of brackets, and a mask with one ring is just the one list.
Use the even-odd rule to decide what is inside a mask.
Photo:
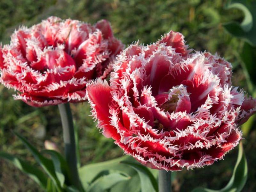
[(101, 79), (87, 85), (103, 135), (148, 167), (213, 164), (238, 144), (239, 125), (256, 111), (255, 100), (232, 87), (228, 61), (191, 51), (171, 31), (154, 44), (125, 49), (110, 85)]

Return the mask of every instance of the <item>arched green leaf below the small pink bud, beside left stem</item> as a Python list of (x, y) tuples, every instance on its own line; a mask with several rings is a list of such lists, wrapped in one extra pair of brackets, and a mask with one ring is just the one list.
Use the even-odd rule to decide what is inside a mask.
[(55, 168), (55, 173), (60, 181), (61, 187), (64, 187), (65, 178), (67, 179), (66, 184), (69, 185), (71, 182), (71, 177), (68, 170), (68, 164), (65, 159), (61, 156), (60, 153), (54, 150), (43, 150), (43, 152), (51, 156)]

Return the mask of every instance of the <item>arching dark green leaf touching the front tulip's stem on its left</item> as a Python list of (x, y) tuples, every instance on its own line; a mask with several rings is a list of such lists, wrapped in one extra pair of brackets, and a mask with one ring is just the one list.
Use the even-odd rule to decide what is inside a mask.
[(147, 167), (137, 162), (122, 161), (121, 163), (131, 166), (138, 172), (140, 176), (142, 192), (158, 191), (157, 181)]

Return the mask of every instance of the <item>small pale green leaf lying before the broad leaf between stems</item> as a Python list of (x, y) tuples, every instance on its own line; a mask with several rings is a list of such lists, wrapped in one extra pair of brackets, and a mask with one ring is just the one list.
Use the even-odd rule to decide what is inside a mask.
[(104, 172), (103, 176), (97, 177), (96, 180), (94, 179), (94, 182), (89, 186), (89, 188), (86, 189), (86, 191), (88, 192), (105, 191), (112, 188), (117, 183), (124, 180), (129, 180), (129, 179), (130, 177), (126, 173), (111, 170), (109, 174), (106, 174), (106, 172)]

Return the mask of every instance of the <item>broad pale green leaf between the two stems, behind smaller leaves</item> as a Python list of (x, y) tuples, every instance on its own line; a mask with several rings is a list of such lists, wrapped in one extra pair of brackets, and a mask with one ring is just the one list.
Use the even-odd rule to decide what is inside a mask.
[(111, 192), (120, 191), (140, 191), (140, 178), (138, 173), (130, 166), (125, 164), (120, 164), (121, 161), (136, 161), (131, 156), (123, 156), (110, 161), (105, 161), (101, 163), (89, 164), (81, 167), (78, 172), (81, 178), (81, 182), (84, 188), (88, 188), (90, 182), (102, 171), (106, 170), (116, 170), (122, 171), (131, 177), (130, 180), (125, 180), (117, 183), (113, 188), (110, 189)]

